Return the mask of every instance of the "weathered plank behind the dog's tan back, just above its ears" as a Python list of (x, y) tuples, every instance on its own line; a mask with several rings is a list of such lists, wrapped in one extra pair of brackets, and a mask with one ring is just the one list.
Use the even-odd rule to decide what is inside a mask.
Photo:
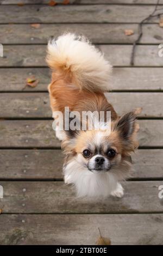
[[(163, 117), (162, 93), (106, 93), (105, 95), (118, 114), (141, 107), (142, 112), (139, 117)], [(0, 118), (51, 117), (48, 93), (0, 94)]]

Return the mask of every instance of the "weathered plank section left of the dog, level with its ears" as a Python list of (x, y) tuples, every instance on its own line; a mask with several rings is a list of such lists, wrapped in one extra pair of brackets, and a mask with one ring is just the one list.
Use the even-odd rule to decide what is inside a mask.
[(52, 120), (0, 120), (0, 147), (60, 147)]

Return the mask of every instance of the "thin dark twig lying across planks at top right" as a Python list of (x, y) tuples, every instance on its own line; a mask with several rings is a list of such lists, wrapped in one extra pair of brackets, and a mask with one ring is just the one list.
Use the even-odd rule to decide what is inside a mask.
[(139, 27), (138, 27), (138, 37), (137, 39), (135, 40), (134, 44), (133, 44), (133, 48), (132, 48), (132, 52), (131, 52), (131, 59), (130, 59), (130, 65), (133, 66), (134, 65), (134, 57), (135, 57), (135, 48), (136, 48), (136, 45), (139, 43), (141, 37), (142, 37), (142, 25), (145, 21), (148, 21), (149, 19), (151, 19), (151, 17), (154, 17), (154, 14), (155, 14), (155, 11), (158, 10), (158, 5), (159, 5), (159, 1), (157, 1), (156, 5), (155, 5), (155, 8), (153, 10), (153, 12), (151, 14), (149, 14), (145, 19), (143, 19), (140, 23), (139, 23)]

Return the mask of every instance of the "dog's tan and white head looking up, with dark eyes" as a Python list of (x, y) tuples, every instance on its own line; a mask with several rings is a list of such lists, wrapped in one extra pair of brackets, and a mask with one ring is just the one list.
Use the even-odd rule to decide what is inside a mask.
[[(109, 175), (116, 181), (126, 178), (130, 153), (137, 148), (135, 119), (135, 114), (129, 112), (112, 121), (110, 131), (66, 131), (67, 136), (62, 143), (66, 153), (65, 181), (79, 185), (84, 180), (83, 186), (86, 186), (90, 177), (89, 182), (96, 176), (97, 183), (101, 177), (107, 180)], [(93, 186), (95, 190), (95, 184)]]

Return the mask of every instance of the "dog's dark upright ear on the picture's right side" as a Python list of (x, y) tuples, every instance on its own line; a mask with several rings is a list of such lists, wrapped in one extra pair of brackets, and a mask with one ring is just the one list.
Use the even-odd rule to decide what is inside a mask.
[(120, 131), (120, 136), (127, 140), (135, 131), (136, 115), (133, 112), (122, 115), (117, 121), (115, 129)]

